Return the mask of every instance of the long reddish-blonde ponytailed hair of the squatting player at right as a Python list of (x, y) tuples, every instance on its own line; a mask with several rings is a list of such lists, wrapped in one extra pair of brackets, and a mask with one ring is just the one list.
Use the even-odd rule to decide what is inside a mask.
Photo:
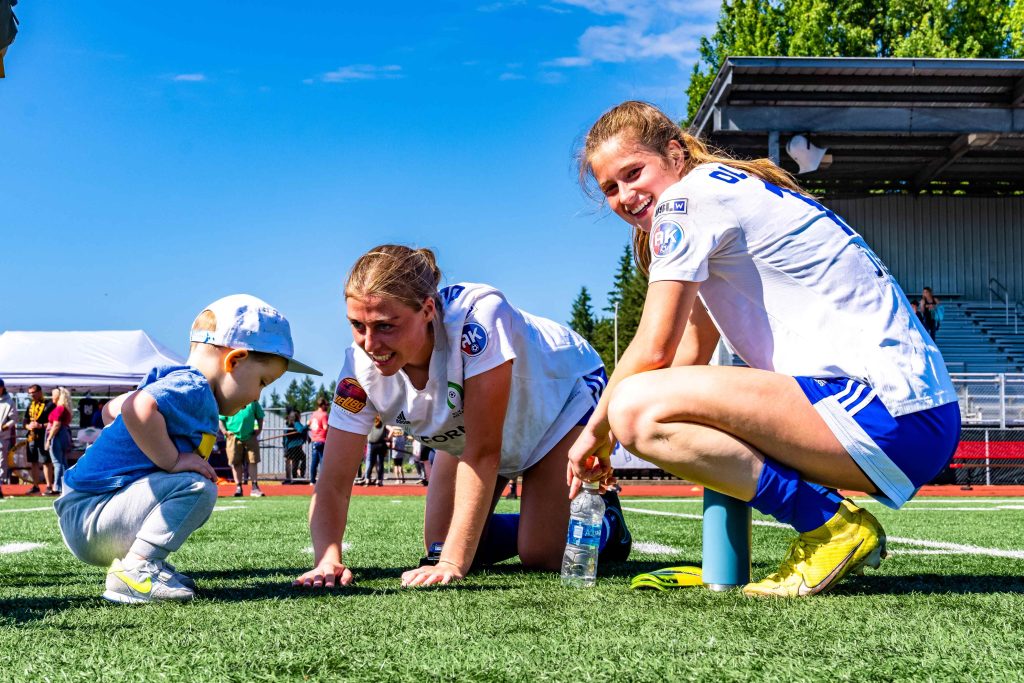
[[(776, 166), (770, 159), (734, 159), (721, 150), (708, 145), (700, 138), (690, 135), (680, 128), (659, 109), (647, 102), (625, 101), (611, 108), (591, 126), (583, 147), (578, 154), (580, 184), (591, 197), (596, 197), (589, 182), (595, 180), (591, 159), (598, 147), (608, 140), (622, 135), (669, 161), (669, 142), (676, 140), (683, 147), (683, 173), (689, 173), (700, 164), (728, 164), (740, 171), (767, 180), (779, 187), (806, 194), (788, 172)], [(641, 272), (647, 274), (650, 267), (649, 236), (640, 228), (633, 227), (633, 259)]]

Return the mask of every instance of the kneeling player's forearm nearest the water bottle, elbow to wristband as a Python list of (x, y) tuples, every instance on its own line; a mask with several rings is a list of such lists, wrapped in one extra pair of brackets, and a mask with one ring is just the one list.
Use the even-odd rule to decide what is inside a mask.
[(490, 499), (498, 480), (500, 453), (464, 453), (456, 467), (455, 510), (444, 539), (441, 561), (469, 570), (490, 512)]

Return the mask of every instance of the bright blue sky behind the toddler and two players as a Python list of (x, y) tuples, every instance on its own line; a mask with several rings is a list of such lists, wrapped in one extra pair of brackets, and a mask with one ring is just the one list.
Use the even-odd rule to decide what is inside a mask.
[(183, 353), (205, 304), (248, 292), (333, 378), (345, 273), (383, 242), (559, 322), (583, 285), (603, 305), (628, 231), (580, 191), (575, 144), (628, 98), (682, 118), (719, 4), (24, 0), (0, 330)]

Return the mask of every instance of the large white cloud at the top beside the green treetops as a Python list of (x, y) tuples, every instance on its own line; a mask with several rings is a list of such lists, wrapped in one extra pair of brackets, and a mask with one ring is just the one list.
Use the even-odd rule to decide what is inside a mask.
[(680, 66), (697, 59), (700, 38), (715, 30), (721, 0), (554, 0), (557, 4), (601, 16), (621, 17), (584, 31), (578, 54), (558, 57), (546, 66), (588, 67), (595, 62), (674, 59)]

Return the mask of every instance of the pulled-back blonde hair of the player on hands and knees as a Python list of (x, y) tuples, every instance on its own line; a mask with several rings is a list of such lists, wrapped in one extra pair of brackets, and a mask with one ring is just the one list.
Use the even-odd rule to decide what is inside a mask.
[(345, 282), (345, 298), (388, 297), (413, 310), (421, 310), (423, 302), (433, 298), (440, 311), (441, 301), (437, 294), (440, 282), (437, 259), (429, 249), (380, 245), (355, 261)]

